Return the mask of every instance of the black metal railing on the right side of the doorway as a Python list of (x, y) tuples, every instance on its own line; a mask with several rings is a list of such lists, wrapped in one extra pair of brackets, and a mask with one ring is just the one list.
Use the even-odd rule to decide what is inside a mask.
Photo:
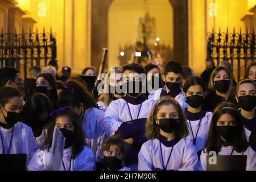
[(216, 61), (217, 65), (220, 61), (229, 61), (237, 73), (237, 81), (241, 78), (242, 69), (245, 72), (247, 64), (256, 59), (254, 30), (252, 34), (248, 30), (242, 34), (241, 29), (239, 33), (235, 29), (229, 33), (228, 28), (226, 32), (212, 31), (207, 34), (207, 41), (207, 59)]

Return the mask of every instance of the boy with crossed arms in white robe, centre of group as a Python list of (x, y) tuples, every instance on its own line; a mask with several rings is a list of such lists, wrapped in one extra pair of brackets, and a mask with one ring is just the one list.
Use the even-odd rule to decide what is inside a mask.
[[(143, 94), (145, 92), (142, 92), (142, 85), (146, 83), (146, 74), (140, 65), (125, 65), (123, 73), (125, 76), (123, 89), (127, 89), (127, 94), (110, 103), (105, 112), (104, 129), (108, 137), (118, 134), (124, 139), (127, 154), (124, 159), (125, 164), (132, 170), (137, 170), (138, 152), (147, 140), (144, 137), (146, 119), (155, 101), (147, 99)], [(143, 75), (145, 80), (142, 78)], [(133, 85), (133, 89), (129, 88), (130, 85)]]

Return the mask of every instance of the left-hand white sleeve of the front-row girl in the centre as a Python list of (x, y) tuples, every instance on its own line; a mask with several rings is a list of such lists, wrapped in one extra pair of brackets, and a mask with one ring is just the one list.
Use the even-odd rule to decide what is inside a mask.
[(152, 171), (152, 159), (150, 156), (150, 148), (147, 143), (144, 143), (138, 154), (138, 170), (139, 171)]

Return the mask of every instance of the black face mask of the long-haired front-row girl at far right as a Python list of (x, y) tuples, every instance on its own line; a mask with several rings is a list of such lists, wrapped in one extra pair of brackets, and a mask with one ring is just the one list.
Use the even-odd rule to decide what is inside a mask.
[(226, 140), (226, 143), (232, 143), (234, 141), (234, 136), (237, 133), (236, 126), (217, 126), (217, 132), (222, 138)]

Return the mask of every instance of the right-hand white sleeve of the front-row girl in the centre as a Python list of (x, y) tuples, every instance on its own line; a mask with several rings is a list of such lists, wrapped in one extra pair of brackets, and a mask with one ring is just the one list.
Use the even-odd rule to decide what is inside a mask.
[(198, 156), (192, 141), (188, 141), (187, 150), (183, 156), (185, 156), (182, 162), (183, 166), (179, 168), (178, 171), (196, 171)]

